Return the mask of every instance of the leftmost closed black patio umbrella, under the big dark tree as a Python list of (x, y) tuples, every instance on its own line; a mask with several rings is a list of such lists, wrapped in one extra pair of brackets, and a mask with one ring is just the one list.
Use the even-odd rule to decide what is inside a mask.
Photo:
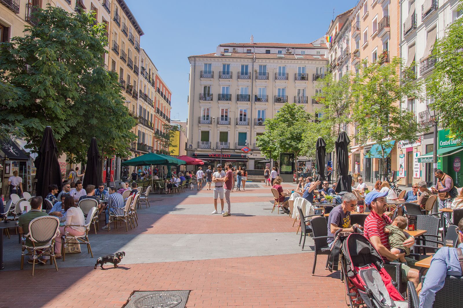
[(61, 178), (61, 168), (58, 163), (58, 148), (51, 127), (45, 127), (44, 137), (40, 143), (38, 156), (35, 159), (35, 167), (37, 168), (37, 195), (45, 198), (49, 189), (48, 186), (56, 184), (58, 191), (63, 187), (63, 179)]

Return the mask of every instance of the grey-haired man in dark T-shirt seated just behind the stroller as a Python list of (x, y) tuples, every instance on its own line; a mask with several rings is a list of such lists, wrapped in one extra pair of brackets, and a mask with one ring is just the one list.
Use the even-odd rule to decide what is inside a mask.
[[(331, 248), (334, 243), (334, 233), (339, 229), (342, 232), (354, 232), (353, 226), (350, 225), (350, 212), (357, 206), (357, 197), (352, 193), (343, 195), (343, 203), (334, 207), (328, 216), (328, 247)], [(355, 225), (362, 229), (362, 226)]]

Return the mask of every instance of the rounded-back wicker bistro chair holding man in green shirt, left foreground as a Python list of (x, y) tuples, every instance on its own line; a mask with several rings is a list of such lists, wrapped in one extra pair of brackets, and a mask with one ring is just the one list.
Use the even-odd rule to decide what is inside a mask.
[[(21, 270), (24, 269), (24, 256), (32, 256), (32, 276), (34, 276), (35, 260), (41, 256), (50, 256), (51, 262), (55, 263), (56, 271), (58, 265), (55, 259), (55, 238), (59, 234), (59, 218), (55, 216), (41, 216), (33, 219), (29, 223), (29, 233), (25, 234), (22, 239), (21, 251)], [(30, 239), (32, 246), (26, 245), (26, 239)], [(25, 252), (25, 250), (29, 252)]]

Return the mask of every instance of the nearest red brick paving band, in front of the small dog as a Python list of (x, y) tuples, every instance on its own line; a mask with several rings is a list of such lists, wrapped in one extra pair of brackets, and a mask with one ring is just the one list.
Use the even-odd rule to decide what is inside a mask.
[[(191, 290), (187, 307), (346, 307), (344, 285), (313, 253), (151, 264), (4, 271), (0, 307), (122, 307), (134, 290)], [(297, 265), (296, 265), (297, 264)], [(59, 265), (59, 263), (58, 263)], [(305, 269), (305, 270), (304, 270)]]

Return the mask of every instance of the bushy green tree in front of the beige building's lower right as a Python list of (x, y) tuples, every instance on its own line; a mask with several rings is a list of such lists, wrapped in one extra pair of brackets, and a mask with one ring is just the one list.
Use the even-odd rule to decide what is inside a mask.
[(303, 137), (311, 116), (303, 106), (285, 103), (273, 119), (265, 119), (265, 132), (257, 136), (256, 145), (265, 157), (278, 159), (281, 153), (306, 155), (307, 146)]

